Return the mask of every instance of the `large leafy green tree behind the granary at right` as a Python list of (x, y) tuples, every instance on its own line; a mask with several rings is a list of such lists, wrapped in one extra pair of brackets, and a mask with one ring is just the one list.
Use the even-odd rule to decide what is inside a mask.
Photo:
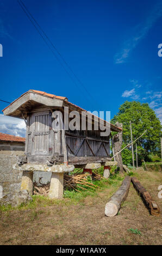
[[(111, 120), (111, 123), (115, 124), (116, 121), (123, 124), (122, 147), (130, 143), (130, 121), (132, 123), (133, 141), (145, 130), (147, 130), (144, 136), (142, 136), (136, 142), (138, 145), (139, 161), (142, 159), (148, 161), (148, 155), (150, 153), (158, 153), (160, 151), (160, 136), (162, 126), (153, 109), (148, 106), (148, 103), (140, 103), (139, 101), (125, 101), (120, 106), (119, 113), (117, 113)], [(131, 147), (122, 151), (123, 163), (132, 163), (132, 156), (130, 152)]]

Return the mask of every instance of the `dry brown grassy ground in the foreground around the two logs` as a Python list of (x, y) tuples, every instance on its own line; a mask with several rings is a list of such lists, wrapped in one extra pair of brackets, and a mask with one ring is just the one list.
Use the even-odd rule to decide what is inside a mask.
[[(158, 198), (162, 173), (139, 169), (136, 176), (162, 212), (162, 199)], [(149, 215), (132, 184), (119, 214), (105, 217), (104, 207), (111, 192), (109, 185), (97, 196), (88, 196), (75, 204), (71, 199), (46, 205), (41, 200), (34, 209), (0, 211), (0, 244), (161, 245), (161, 215)], [(141, 234), (131, 233), (130, 228)]]

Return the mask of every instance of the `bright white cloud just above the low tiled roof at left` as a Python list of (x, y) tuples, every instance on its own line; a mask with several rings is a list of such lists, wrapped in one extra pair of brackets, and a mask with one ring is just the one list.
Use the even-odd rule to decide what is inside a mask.
[(22, 119), (0, 114), (0, 132), (26, 137), (26, 124)]

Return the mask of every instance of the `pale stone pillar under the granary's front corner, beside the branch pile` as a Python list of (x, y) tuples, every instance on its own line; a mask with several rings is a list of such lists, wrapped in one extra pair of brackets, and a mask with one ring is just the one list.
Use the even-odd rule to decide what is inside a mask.
[(63, 198), (64, 191), (64, 173), (52, 173), (51, 184), (49, 187), (49, 198)]

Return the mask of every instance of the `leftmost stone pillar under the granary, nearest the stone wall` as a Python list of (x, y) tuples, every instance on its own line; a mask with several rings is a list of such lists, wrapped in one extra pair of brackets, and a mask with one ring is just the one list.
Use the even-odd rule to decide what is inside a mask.
[(27, 190), (29, 195), (33, 194), (33, 172), (28, 170), (23, 170), (22, 181), (21, 181), (21, 190)]

